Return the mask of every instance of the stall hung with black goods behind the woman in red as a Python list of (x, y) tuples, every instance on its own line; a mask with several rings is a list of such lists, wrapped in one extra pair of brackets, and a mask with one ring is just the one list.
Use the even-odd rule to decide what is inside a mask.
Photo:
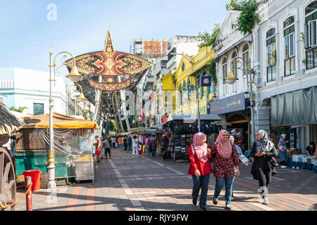
[[(218, 115), (200, 116), (201, 132), (207, 135), (209, 146), (216, 141), (218, 132), (222, 129), (221, 124), (216, 122), (218, 120), (221, 120)], [(197, 115), (169, 115), (167, 122), (163, 124), (161, 137), (163, 159), (189, 162), (189, 146), (198, 131)]]

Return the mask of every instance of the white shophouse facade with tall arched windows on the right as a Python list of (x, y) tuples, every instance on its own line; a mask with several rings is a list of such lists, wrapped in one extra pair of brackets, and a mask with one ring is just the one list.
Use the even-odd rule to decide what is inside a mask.
[[(261, 1), (257, 13), (260, 22), (256, 23), (251, 34), (243, 35), (232, 28), (240, 11), (228, 11), (215, 46), (217, 100), (249, 90), (242, 70), (235, 69), (232, 64), (240, 65), (243, 69), (244, 65), (236, 58), (247, 60), (250, 56), (255, 75), (252, 84), (255, 94), (255, 131), (264, 129), (268, 134), (272, 132), (276, 138), (282, 133), (289, 134), (290, 147), (300, 148), (304, 153), (310, 141), (317, 141), (317, 120), (314, 115), (317, 96), (307, 97), (313, 95), (317, 88), (317, 1)], [(239, 79), (235, 84), (223, 81), (230, 70)], [(304, 94), (299, 96), (301, 93)], [(305, 98), (311, 98), (311, 103), (299, 107), (297, 101), (304, 101)], [(294, 113), (296, 108), (311, 109), (311, 117), (300, 119), (301, 115), (305, 117), (305, 112)], [(238, 121), (245, 117), (249, 130), (244, 131), (250, 134), (248, 105), (244, 110), (220, 114), (220, 117), (233, 124), (235, 117)]]

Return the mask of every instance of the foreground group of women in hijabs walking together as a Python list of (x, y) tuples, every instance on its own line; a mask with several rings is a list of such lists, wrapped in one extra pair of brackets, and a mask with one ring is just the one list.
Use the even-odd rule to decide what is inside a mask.
[[(268, 204), (268, 186), (272, 176), (276, 174), (275, 160), (277, 150), (274, 144), (268, 140), (266, 131), (259, 130), (256, 133), (250, 156), (254, 158), (251, 165), (251, 174), (259, 181), (259, 200), (264, 205)], [(211, 161), (214, 158), (213, 167)], [(225, 187), (225, 209), (231, 210), (231, 201), (234, 200), (232, 186), (235, 176), (240, 176), (240, 160), (247, 166), (250, 162), (242, 154), (242, 150), (235, 144), (235, 138), (228, 131), (222, 129), (212, 146), (207, 146), (206, 134), (194, 134), (193, 144), (189, 147), (189, 175), (192, 175), (192, 204), (197, 205), (199, 191), (199, 210), (206, 211), (206, 200), (210, 174), (216, 179), (213, 191), (213, 204), (218, 204), (218, 197)]]

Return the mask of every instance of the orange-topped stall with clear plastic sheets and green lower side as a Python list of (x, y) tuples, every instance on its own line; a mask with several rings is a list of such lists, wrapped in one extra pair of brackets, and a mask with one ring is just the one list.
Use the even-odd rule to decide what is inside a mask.
[[(49, 114), (22, 117), (25, 125), (16, 134), (16, 173), (49, 165)], [(97, 124), (59, 113), (53, 114), (56, 179), (94, 181), (94, 131)]]

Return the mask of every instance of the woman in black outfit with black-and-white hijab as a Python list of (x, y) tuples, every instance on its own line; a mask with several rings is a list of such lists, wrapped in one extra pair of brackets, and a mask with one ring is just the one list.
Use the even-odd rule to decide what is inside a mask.
[[(250, 155), (251, 158), (254, 158), (251, 174), (254, 179), (259, 181), (260, 188), (267, 188), (271, 182), (271, 177), (276, 174), (275, 167), (270, 162), (276, 156), (276, 149), (274, 143), (268, 140), (266, 131), (259, 130), (256, 133), (256, 141), (253, 143)], [(268, 205), (268, 198), (264, 197), (263, 204)]]

